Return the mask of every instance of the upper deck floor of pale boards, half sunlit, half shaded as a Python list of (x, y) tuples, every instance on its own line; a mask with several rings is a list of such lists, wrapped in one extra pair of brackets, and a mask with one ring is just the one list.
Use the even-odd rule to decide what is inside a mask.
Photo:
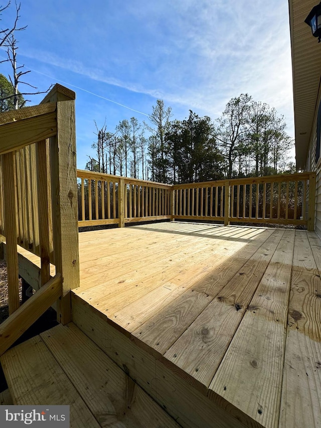
[(321, 426), (314, 232), (171, 222), (79, 241), (74, 301), (262, 426)]

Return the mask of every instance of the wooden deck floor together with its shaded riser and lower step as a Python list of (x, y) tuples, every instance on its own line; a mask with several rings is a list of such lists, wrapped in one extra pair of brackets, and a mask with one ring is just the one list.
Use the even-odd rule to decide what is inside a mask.
[(84, 401), (76, 426), (319, 426), (314, 232), (175, 222), (79, 240), (73, 323), (2, 357), (14, 402)]

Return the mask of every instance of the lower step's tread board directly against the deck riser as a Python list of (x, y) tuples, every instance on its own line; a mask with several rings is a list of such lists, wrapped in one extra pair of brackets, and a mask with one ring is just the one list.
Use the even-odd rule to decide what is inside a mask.
[(100, 426), (179, 427), (73, 323), (40, 336)]

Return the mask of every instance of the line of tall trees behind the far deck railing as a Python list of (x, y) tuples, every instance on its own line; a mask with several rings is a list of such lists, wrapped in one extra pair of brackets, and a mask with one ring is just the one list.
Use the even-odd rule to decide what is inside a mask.
[(248, 94), (232, 98), (215, 121), (192, 110), (184, 120), (172, 116), (158, 99), (147, 122), (123, 119), (112, 131), (95, 122), (86, 169), (168, 184), (294, 171), (284, 117)]

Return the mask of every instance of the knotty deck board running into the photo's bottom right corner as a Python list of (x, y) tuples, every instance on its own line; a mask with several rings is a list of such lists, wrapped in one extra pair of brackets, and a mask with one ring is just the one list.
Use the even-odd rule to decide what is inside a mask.
[(319, 251), (312, 252), (306, 232), (295, 232), (280, 428), (321, 426), (321, 266), (315, 263), (320, 261)]

